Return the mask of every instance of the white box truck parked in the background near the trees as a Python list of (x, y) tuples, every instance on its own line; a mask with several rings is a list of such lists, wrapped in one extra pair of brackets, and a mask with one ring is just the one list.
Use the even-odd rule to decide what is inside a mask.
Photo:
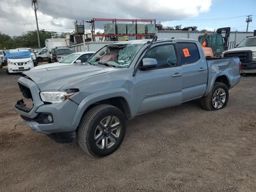
[(52, 51), (54, 51), (56, 47), (66, 47), (66, 46), (67, 46), (67, 40), (65, 38), (46, 39), (45, 47), (47, 50), (48, 63), (52, 62), (53, 60)]

